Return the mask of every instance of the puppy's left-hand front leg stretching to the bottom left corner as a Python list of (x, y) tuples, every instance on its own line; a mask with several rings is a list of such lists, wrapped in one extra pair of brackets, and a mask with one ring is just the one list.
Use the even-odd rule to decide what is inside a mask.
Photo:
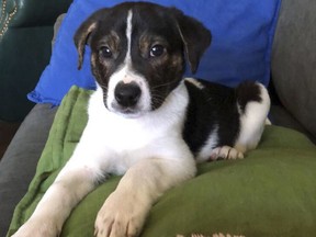
[(74, 206), (94, 188), (98, 173), (95, 167), (70, 159), (13, 237), (58, 236)]

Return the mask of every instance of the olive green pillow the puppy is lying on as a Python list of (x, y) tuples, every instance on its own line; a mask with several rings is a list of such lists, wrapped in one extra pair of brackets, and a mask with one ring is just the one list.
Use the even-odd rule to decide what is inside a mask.
[[(29, 192), (15, 208), (13, 234), (71, 156), (87, 123), (91, 91), (72, 87), (56, 114)], [(87, 195), (61, 236), (93, 236), (97, 213), (115, 189), (112, 177)], [(259, 147), (242, 160), (199, 165), (198, 176), (168, 191), (153, 206), (142, 237), (316, 235), (316, 148), (304, 135), (267, 126)]]

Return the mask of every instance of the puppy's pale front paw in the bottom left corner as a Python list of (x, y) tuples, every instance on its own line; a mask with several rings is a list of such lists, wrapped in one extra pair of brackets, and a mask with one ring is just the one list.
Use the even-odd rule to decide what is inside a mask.
[(29, 219), (12, 237), (57, 237), (59, 229), (47, 218)]

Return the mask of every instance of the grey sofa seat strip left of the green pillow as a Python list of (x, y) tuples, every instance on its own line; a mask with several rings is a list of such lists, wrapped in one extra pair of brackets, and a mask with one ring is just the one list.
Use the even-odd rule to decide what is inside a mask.
[(14, 206), (35, 174), (56, 110), (48, 104), (35, 105), (0, 162), (0, 236), (5, 236)]

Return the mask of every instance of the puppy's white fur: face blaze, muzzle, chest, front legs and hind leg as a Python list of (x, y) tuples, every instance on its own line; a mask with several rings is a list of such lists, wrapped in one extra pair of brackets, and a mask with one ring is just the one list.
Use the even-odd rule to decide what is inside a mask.
[[(132, 12), (127, 16), (128, 47), (131, 22)], [(103, 104), (102, 89), (99, 87), (91, 95), (89, 121), (72, 157), (14, 237), (57, 236), (74, 206), (95, 188), (98, 181), (105, 178), (104, 173), (125, 174), (97, 216), (95, 235), (136, 236), (153, 203), (166, 190), (195, 174), (193, 155), (182, 138), (189, 103), (184, 82), (168, 95), (159, 109), (147, 113), (150, 108), (148, 84), (145, 78), (131, 70), (129, 54), (128, 48), (124, 67), (110, 79), (109, 110)], [(114, 88), (120, 81), (135, 81), (140, 87), (139, 111), (143, 113), (134, 117), (115, 113)], [(195, 83), (199, 86), (199, 82)], [(260, 114), (260, 111), (267, 111), (262, 106), (268, 104), (253, 102), (247, 105), (247, 112), (241, 117), (238, 148), (246, 150), (257, 146), (261, 131), (255, 129), (252, 122), (258, 124), (258, 120), (266, 120), (264, 114)], [(216, 139), (215, 129), (206, 143), (208, 147)], [(199, 161), (210, 158), (207, 150), (206, 146), (201, 150)], [(221, 153), (234, 155), (228, 158), (240, 156), (236, 149), (224, 147), (214, 149), (215, 158)]]

